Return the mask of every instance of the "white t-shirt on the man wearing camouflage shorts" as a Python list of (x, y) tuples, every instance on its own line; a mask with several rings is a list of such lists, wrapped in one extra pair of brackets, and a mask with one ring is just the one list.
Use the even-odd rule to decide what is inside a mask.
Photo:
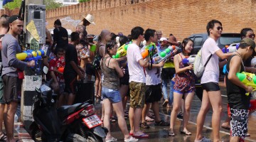
[(141, 59), (142, 55), (140, 53), (139, 46), (135, 43), (129, 45), (127, 49), (129, 82), (146, 82), (143, 67), (139, 65), (139, 60)]

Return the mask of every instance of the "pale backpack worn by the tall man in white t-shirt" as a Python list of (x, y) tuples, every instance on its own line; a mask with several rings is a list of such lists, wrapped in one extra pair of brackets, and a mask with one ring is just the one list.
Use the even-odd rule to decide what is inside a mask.
[(205, 65), (202, 64), (202, 49), (199, 50), (198, 54), (196, 55), (195, 62), (193, 63), (193, 71), (196, 77), (201, 78), (203, 75), (203, 71), (205, 70), (205, 67), (207, 63), (209, 62), (210, 58), (212, 57), (212, 54), (208, 58)]

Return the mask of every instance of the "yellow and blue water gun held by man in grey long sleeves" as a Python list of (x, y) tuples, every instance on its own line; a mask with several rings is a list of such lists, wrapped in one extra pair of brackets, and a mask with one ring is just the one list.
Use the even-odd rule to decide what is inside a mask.
[(45, 55), (45, 52), (43, 50), (26, 50), (23, 51), (23, 53), (16, 54), (16, 58), (18, 60), (23, 61), (31, 61), (31, 60), (40, 60), (42, 56)]

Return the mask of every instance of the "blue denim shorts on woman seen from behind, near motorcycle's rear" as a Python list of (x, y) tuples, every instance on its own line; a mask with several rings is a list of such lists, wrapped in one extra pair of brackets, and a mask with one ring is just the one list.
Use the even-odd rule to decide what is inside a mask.
[(106, 87), (102, 87), (102, 99), (110, 99), (112, 103), (122, 101), (119, 90), (108, 89)]

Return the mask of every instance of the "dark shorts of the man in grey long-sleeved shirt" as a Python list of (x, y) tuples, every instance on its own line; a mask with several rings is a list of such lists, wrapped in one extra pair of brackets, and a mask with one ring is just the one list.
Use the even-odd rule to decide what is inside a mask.
[(3, 76), (4, 81), (4, 102), (18, 102), (18, 94), (21, 94), (22, 80), (18, 77)]

